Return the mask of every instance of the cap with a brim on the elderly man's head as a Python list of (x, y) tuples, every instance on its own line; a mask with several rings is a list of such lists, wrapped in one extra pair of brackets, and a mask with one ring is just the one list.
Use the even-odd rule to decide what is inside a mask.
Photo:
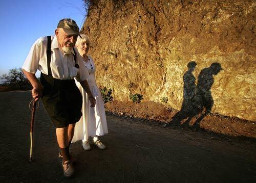
[(57, 28), (62, 28), (65, 33), (68, 35), (79, 35), (79, 28), (75, 22), (75, 20), (72, 20), (71, 18), (64, 18), (62, 20), (59, 20), (59, 23), (57, 25)]

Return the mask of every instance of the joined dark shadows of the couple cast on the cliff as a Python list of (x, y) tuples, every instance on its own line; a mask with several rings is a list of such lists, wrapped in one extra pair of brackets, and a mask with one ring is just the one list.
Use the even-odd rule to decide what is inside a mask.
[(194, 61), (187, 64), (188, 70), (183, 75), (184, 90), (181, 110), (175, 114), (170, 123), (198, 124), (214, 106), (210, 89), (214, 84), (214, 75), (223, 70), (221, 64), (215, 62), (210, 67), (202, 69), (198, 76), (197, 86), (195, 76), (192, 73), (196, 65)]

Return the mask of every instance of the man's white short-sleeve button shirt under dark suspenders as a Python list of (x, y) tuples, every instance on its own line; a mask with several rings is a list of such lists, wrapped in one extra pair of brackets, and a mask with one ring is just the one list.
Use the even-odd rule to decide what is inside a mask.
[[(82, 57), (76, 52), (76, 62), (79, 65), (79, 69), (75, 67), (74, 51), (72, 49), (71, 54), (63, 53), (58, 47), (58, 40), (56, 36), (52, 38), (52, 54), (51, 54), (51, 71), (52, 76), (59, 80), (71, 80), (76, 79), (78, 82), (82, 82), (89, 77), (88, 70), (84, 66)], [(32, 45), (29, 54), (22, 66), (27, 72), (35, 74), (37, 69), (42, 73), (48, 75), (47, 68), (47, 37), (40, 37)]]

